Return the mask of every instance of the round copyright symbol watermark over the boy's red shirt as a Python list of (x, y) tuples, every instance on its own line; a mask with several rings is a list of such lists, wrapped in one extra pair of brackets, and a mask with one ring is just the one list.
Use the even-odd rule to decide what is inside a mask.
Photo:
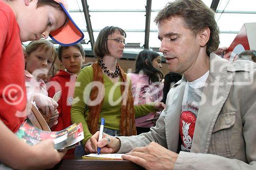
[(9, 105), (18, 105), (24, 98), (22, 87), (16, 84), (10, 84), (3, 90), (3, 99)]

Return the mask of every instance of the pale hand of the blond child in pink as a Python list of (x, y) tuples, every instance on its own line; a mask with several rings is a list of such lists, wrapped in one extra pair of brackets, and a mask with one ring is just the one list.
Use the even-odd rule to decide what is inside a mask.
[(40, 93), (33, 93), (32, 100), (35, 102), (36, 106), (42, 110), (43, 114), (49, 117), (49, 110), (54, 113), (54, 110), (58, 107), (58, 103), (52, 98)]

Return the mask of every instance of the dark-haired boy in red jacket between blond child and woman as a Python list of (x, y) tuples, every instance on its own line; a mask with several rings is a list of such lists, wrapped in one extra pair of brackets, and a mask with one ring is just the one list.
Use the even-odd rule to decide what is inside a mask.
[[(73, 46), (62, 46), (58, 48), (58, 58), (60, 64), (66, 69), (60, 69), (49, 85), (48, 93), (52, 98), (54, 94), (61, 91), (61, 98), (58, 101), (58, 124), (51, 128), (52, 131), (60, 131), (69, 127), (71, 123), (71, 106), (73, 102), (73, 94), (77, 75), (81, 70), (82, 62), (84, 61), (85, 53), (80, 43)], [(54, 86), (54, 84), (56, 84)]]

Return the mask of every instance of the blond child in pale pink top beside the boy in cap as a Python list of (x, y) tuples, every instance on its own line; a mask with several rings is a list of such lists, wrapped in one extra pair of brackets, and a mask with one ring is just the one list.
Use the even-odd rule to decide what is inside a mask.
[[(49, 127), (57, 124), (58, 104), (48, 97), (46, 84), (43, 79), (48, 76), (57, 58), (56, 49), (50, 41), (39, 39), (31, 41), (25, 50), (25, 80), (28, 102), (35, 102), (41, 110)], [(33, 115), (28, 117), (32, 120)]]

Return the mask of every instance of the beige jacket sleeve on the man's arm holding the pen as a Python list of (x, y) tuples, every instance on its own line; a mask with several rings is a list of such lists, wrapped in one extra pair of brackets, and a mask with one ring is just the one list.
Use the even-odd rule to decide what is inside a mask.
[(128, 153), (136, 147), (145, 147), (152, 141), (155, 141), (167, 148), (166, 135), (165, 135), (165, 109), (160, 114), (156, 126), (150, 129), (150, 132), (142, 133), (137, 136), (116, 136), (121, 141), (121, 148), (118, 153)]

